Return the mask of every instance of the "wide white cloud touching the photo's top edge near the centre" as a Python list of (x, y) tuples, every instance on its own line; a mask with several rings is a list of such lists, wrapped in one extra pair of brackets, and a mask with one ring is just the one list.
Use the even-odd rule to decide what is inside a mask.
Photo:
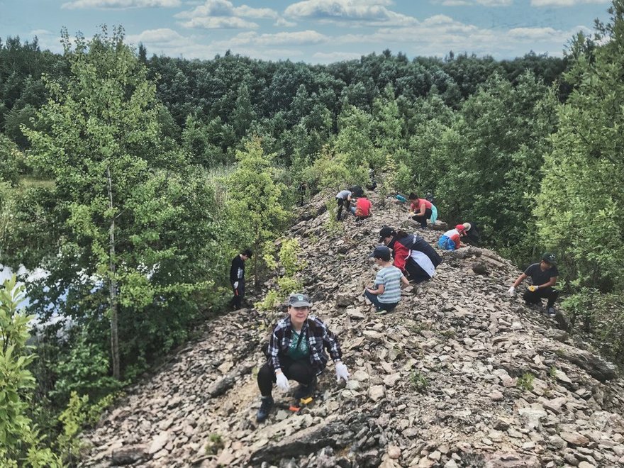
[(355, 23), (358, 26), (408, 26), (416, 18), (386, 9), (389, 1), (304, 0), (291, 4), (284, 14), (325, 23)]

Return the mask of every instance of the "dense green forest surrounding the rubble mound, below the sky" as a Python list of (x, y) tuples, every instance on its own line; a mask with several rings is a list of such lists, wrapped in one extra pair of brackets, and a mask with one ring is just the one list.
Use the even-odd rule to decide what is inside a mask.
[(71, 463), (79, 426), (223, 309), (239, 247), (255, 249), (259, 279), (299, 196), (371, 174), (388, 194), (432, 192), (442, 218), (477, 223), (520, 267), (557, 252), (575, 329), (621, 362), (623, 14), (614, 1), (611, 22), (562, 59), (386, 50), (321, 66), (147, 58), (121, 29), (64, 33), (61, 55), (8, 38), (0, 262), (46, 274), (28, 283), (39, 359), (17, 298), (2, 296), (16, 331), (0, 365), (34, 378), (11, 381), (23, 424), (0, 429), (25, 442), (0, 456), (60, 463), (37, 450), (49, 445)]

